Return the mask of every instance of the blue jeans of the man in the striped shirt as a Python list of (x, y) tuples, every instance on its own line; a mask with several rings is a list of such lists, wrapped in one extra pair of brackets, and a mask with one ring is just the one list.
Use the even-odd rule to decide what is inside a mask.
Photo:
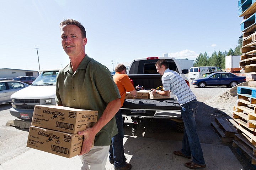
[(203, 151), (196, 132), (197, 107), (196, 99), (181, 105), (181, 116), (185, 125), (181, 152), (188, 157), (192, 154), (192, 162), (204, 165)]

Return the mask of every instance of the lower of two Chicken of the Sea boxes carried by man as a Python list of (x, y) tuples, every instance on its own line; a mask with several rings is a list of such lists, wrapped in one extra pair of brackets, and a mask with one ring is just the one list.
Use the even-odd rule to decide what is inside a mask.
[(69, 134), (30, 126), (27, 147), (66, 158), (72, 158), (80, 154), (83, 141), (84, 135)]

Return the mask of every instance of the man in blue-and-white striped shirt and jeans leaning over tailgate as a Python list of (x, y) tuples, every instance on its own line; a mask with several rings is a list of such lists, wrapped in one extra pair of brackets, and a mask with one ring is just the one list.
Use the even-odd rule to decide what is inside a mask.
[(185, 125), (185, 132), (182, 140), (182, 149), (174, 151), (174, 154), (188, 159), (191, 158), (192, 154), (192, 161), (185, 163), (185, 166), (190, 169), (205, 168), (206, 163), (204, 162), (201, 144), (196, 132), (195, 117), (198, 107), (196, 96), (180, 74), (169, 69), (169, 64), (166, 60), (161, 59), (157, 61), (155, 66), (156, 71), (162, 75), (164, 91), (151, 89), (152, 93), (168, 96), (171, 91), (176, 95), (181, 106), (181, 116)]

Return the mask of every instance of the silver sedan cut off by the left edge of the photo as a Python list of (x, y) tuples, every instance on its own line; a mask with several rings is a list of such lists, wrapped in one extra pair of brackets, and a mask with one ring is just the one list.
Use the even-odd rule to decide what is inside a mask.
[(0, 81), (0, 104), (11, 103), (11, 95), (29, 85), (20, 81)]

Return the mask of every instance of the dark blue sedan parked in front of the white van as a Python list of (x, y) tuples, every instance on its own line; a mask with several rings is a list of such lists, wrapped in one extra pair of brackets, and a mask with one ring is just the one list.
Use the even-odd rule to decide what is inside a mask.
[(212, 73), (205, 78), (192, 80), (191, 84), (198, 87), (205, 86), (230, 86), (234, 87), (246, 81), (246, 77), (237, 76), (232, 73), (218, 72)]

